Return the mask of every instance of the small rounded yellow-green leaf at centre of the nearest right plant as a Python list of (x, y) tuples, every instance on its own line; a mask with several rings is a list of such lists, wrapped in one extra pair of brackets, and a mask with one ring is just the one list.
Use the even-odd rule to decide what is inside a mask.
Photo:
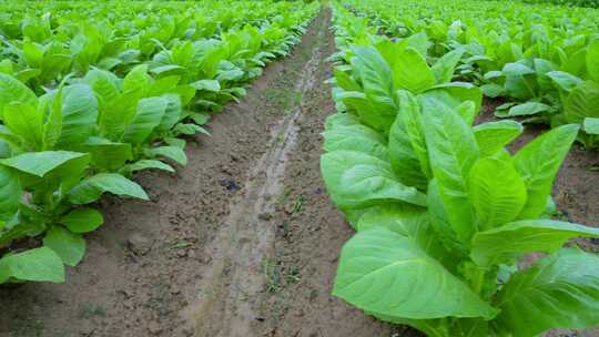
[(514, 221), (526, 204), (526, 185), (509, 161), (478, 160), (470, 170), (468, 186), (485, 229)]

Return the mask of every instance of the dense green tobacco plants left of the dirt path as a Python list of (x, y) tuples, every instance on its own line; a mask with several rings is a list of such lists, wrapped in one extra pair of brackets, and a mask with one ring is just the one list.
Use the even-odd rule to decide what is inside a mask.
[(132, 174), (184, 165), (185, 137), (207, 133), (211, 113), (286, 55), (318, 10), (284, 1), (0, 7), (0, 283), (63, 282), (64, 265), (84, 255), (83, 234), (103, 223), (89, 204), (103, 193), (148, 200)]

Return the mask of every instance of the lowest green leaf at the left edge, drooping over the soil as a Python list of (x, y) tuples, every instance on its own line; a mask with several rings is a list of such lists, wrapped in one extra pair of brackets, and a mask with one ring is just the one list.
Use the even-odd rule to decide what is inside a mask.
[(48, 247), (4, 255), (0, 258), (0, 284), (16, 280), (64, 282), (62, 261)]

